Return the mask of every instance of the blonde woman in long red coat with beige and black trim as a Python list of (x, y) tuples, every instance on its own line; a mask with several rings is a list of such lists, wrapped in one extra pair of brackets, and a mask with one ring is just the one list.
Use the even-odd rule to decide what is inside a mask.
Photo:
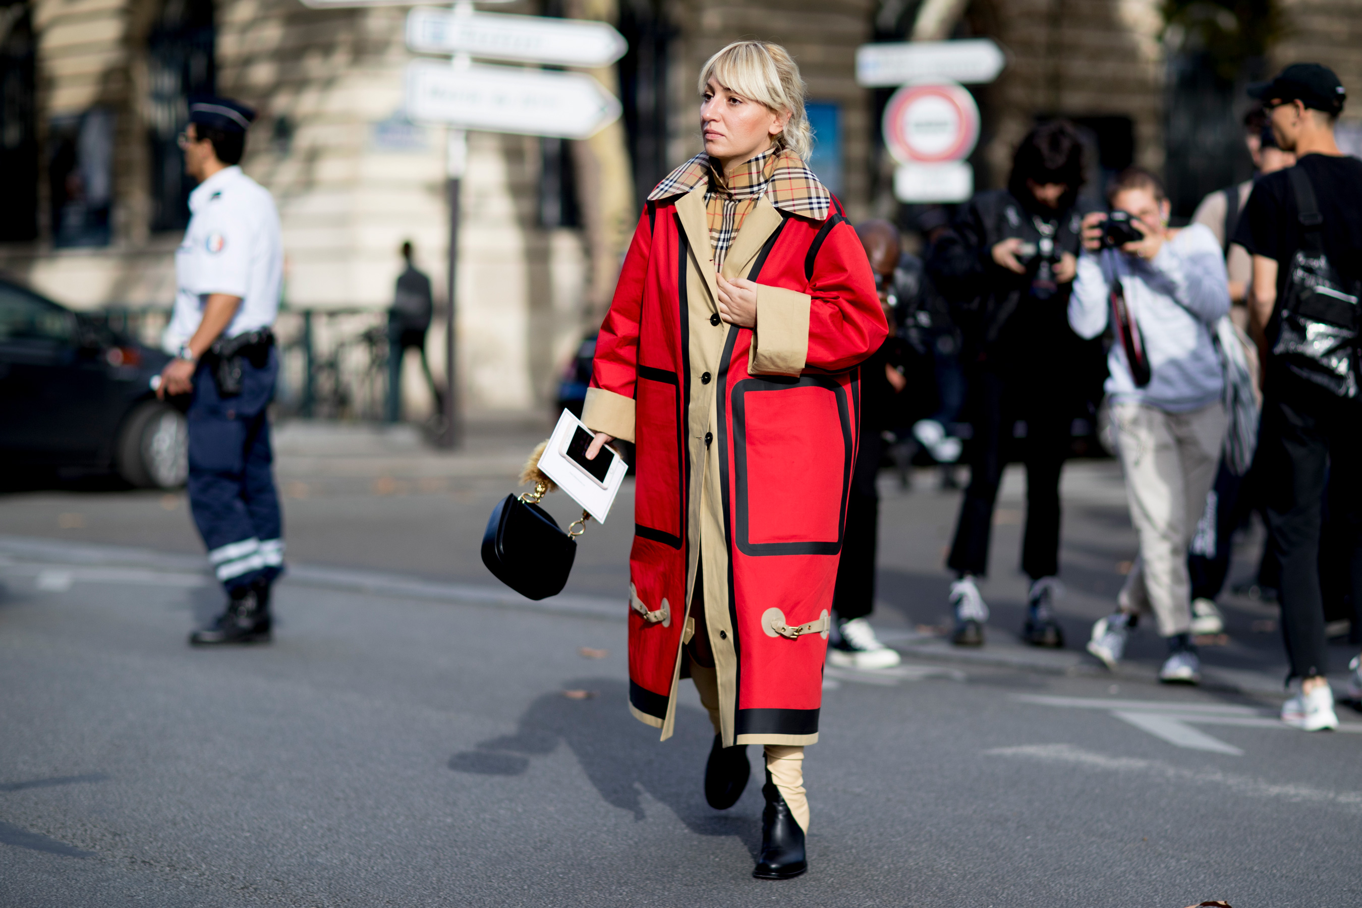
[(714, 724), (710, 805), (737, 802), (765, 749), (753, 875), (804, 873), (804, 747), (823, 660), (861, 406), (887, 328), (832, 193), (790, 54), (740, 41), (700, 74), (704, 152), (648, 196), (601, 325), (588, 456), (637, 445), (629, 700), (671, 735), (689, 677)]

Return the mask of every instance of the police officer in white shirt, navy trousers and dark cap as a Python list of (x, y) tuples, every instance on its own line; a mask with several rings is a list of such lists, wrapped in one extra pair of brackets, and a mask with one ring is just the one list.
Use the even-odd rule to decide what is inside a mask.
[(227, 603), (193, 645), (270, 640), (270, 585), (283, 569), (270, 423), (279, 359), (274, 324), (283, 282), (279, 214), (237, 166), (255, 112), (193, 98), (180, 136), (189, 227), (176, 250), (178, 285), (165, 346), (176, 358), (159, 396), (188, 395), (189, 505)]

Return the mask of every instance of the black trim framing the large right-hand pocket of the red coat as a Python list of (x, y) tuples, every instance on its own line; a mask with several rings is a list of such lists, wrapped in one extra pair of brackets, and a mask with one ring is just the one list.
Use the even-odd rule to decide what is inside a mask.
[[(748, 539), (748, 449), (746, 449), (746, 395), (767, 391), (790, 391), (791, 388), (825, 388), (838, 402), (838, 418), (842, 422), (842, 502), (838, 506), (838, 538), (806, 539), (804, 542), (761, 542)], [(733, 535), (738, 551), (757, 558), (764, 555), (835, 555), (842, 551), (842, 538), (846, 535), (847, 501), (851, 493), (851, 474), (855, 466), (854, 427), (847, 406), (847, 392), (839, 381), (824, 376), (801, 376), (799, 378), (771, 376), (764, 378), (744, 378), (733, 385), (733, 459), (737, 474), (737, 521)]]

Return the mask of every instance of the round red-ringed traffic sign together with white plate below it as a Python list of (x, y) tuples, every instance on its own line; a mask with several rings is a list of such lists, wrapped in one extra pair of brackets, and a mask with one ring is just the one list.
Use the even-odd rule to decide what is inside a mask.
[(904, 86), (884, 108), (884, 144), (899, 162), (899, 201), (964, 201), (974, 172), (964, 162), (979, 140), (979, 108), (957, 83)]

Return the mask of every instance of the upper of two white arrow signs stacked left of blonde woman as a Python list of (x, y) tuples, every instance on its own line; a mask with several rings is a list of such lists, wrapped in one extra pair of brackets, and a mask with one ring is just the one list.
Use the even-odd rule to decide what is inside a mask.
[(458, 15), (448, 10), (413, 10), (407, 46), (418, 53), (467, 53), (474, 57), (603, 67), (629, 49), (605, 22), (508, 16), (497, 12)]

